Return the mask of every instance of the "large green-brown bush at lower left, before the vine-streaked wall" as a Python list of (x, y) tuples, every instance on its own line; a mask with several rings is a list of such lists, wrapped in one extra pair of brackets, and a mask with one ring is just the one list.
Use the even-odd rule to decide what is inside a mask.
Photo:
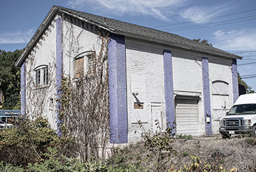
[(0, 131), (0, 160), (24, 166), (44, 160), (47, 147), (55, 147), (68, 156), (75, 152), (73, 140), (58, 137), (45, 118), (18, 121), (17, 127)]

